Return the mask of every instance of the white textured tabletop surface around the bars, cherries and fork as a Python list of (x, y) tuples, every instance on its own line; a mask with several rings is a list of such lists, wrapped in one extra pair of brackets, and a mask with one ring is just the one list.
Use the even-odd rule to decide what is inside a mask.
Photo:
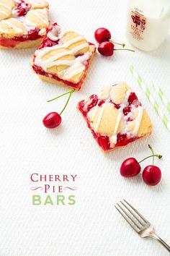
[[(50, 14), (53, 21), (92, 42), (97, 27), (108, 27), (116, 41), (124, 42), (125, 4), (123, 0), (51, 0)], [(168, 97), (169, 43), (167, 38), (152, 53), (117, 51), (114, 58), (97, 54), (82, 90), (73, 93), (63, 113), (61, 127), (53, 130), (42, 126), (42, 118), (50, 111), (61, 111), (65, 99), (46, 101), (67, 88), (48, 85), (32, 73), (29, 61), (34, 49), (0, 52), (1, 256), (169, 255), (157, 242), (140, 239), (114, 208), (118, 200), (129, 200), (170, 243), (170, 135), (129, 72), (133, 64), (148, 85), (156, 82)], [(76, 104), (122, 80), (134, 88), (147, 108), (154, 132), (147, 139), (103, 155)], [(140, 175), (127, 180), (119, 173), (125, 158), (140, 160), (150, 154), (148, 143), (164, 155), (156, 160), (163, 174), (157, 187), (146, 186)], [(76, 183), (71, 184), (77, 187), (76, 205), (33, 206), (32, 172), (77, 174)], [(42, 192), (37, 193), (43, 197)]]

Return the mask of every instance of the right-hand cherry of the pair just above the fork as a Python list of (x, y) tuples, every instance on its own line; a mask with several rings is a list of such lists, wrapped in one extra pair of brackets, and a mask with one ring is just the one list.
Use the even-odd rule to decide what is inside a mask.
[(146, 166), (142, 176), (147, 185), (156, 186), (161, 181), (161, 169), (157, 166)]

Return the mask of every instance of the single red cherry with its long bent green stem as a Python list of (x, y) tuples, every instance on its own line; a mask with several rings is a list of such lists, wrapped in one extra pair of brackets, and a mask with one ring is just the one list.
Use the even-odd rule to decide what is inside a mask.
[(48, 129), (53, 129), (55, 127), (58, 127), (60, 124), (61, 124), (61, 114), (63, 114), (63, 111), (66, 109), (66, 106), (68, 105), (68, 102), (70, 101), (70, 98), (71, 98), (71, 95), (72, 93), (74, 92), (75, 89), (72, 89), (72, 90), (68, 90), (68, 92), (66, 93), (63, 93), (61, 95), (58, 95), (57, 97), (55, 98), (52, 98), (51, 100), (49, 100), (48, 102), (50, 101), (55, 101), (57, 98), (61, 98), (63, 97), (64, 95), (67, 95), (68, 94), (68, 99), (65, 103), (65, 105), (63, 106), (63, 109), (61, 111), (60, 114), (58, 114), (57, 112), (50, 112), (48, 113), (44, 119), (42, 120), (42, 123), (44, 124), (44, 126)]

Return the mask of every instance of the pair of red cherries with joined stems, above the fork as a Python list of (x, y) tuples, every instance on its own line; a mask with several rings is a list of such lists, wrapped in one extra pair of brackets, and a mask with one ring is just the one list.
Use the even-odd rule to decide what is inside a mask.
[(153, 164), (150, 166), (146, 166), (143, 169), (143, 181), (150, 186), (155, 186), (161, 181), (161, 169), (158, 166), (154, 165), (154, 157), (162, 158), (162, 155), (155, 155), (153, 152), (153, 148), (151, 145), (148, 145), (151, 149), (152, 155), (144, 158), (141, 161), (137, 161), (135, 158), (127, 158), (125, 161), (122, 162), (120, 166), (120, 174), (124, 177), (133, 177), (140, 173), (141, 166), (140, 163), (145, 161), (147, 158), (153, 158)]

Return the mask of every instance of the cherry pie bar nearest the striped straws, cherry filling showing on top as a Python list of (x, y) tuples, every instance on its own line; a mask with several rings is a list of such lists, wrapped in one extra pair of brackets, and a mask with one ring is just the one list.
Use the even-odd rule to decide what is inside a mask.
[(80, 101), (78, 108), (94, 139), (106, 152), (151, 135), (151, 120), (125, 82)]

